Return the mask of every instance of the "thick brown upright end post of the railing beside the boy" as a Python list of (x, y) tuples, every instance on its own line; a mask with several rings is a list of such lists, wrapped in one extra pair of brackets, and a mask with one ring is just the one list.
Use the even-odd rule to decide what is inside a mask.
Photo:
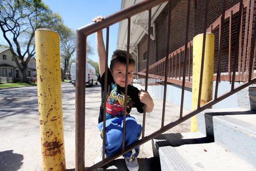
[[(87, 37), (77, 31), (76, 53), (76, 113), (75, 113), (75, 170), (84, 169), (84, 132), (85, 132), (85, 103), (86, 103), (86, 44)], [(80, 77), (79, 77), (80, 76)]]

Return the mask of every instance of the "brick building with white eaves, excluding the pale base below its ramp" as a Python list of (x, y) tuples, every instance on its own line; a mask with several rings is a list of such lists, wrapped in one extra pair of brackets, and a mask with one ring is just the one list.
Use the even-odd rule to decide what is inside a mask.
[[(135, 1), (138, 3), (140, 1)], [(186, 34), (186, 16), (187, 16), (187, 4), (186, 0), (177, 0), (172, 2), (172, 13), (171, 13), (171, 22), (170, 22), (170, 41), (169, 41), (169, 54), (173, 54), (172, 60), (169, 61), (169, 68), (176, 68), (176, 71), (169, 71), (170, 75), (179, 75), (182, 77), (183, 65), (184, 65), (184, 51), (181, 51), (180, 48), (185, 44), (185, 34)], [(221, 52), (221, 72), (230, 73), (232, 71), (232, 62), (234, 59), (234, 50), (235, 50), (235, 40), (238, 30), (238, 10), (239, 10), (239, 0), (227, 0), (225, 5), (225, 22), (224, 22), (224, 35), (222, 42), (222, 52)], [(129, 4), (130, 3), (130, 4)], [(166, 35), (167, 35), (167, 23), (168, 23), (168, 6), (167, 3), (164, 3), (158, 7), (152, 9), (152, 29), (151, 34), (154, 35), (154, 38), (151, 38), (150, 42), (150, 52), (147, 52), (147, 21), (148, 21), (148, 12), (142, 12), (133, 16), (131, 18), (131, 52), (137, 58), (137, 70), (138, 72), (143, 71), (146, 68), (146, 54), (150, 53), (149, 66), (154, 65), (159, 60), (163, 59), (166, 56)], [(241, 51), (241, 66), (237, 68), (237, 72), (243, 73), (246, 72), (246, 55), (248, 51), (244, 51), (244, 38), (250, 41), (252, 33), (252, 19), (249, 20), (251, 12), (253, 13), (253, 8), (255, 6), (254, 1), (243, 1), (243, 17), (242, 17), (242, 39), (240, 45)], [(254, 4), (254, 5), (252, 5)], [(131, 2), (122, 1), (121, 8), (132, 5)], [(208, 4), (208, 15), (207, 15), (207, 31), (215, 34), (215, 67), (214, 72), (217, 73), (217, 62), (219, 56), (219, 32), (220, 32), (220, 22), (222, 15), (223, 1), (209, 1)], [(253, 7), (253, 8), (251, 8)], [(251, 10), (252, 9), (252, 10)], [(204, 17), (205, 17), (205, 1), (203, 0), (191, 0), (190, 1), (190, 13), (189, 13), (189, 31), (188, 31), (188, 41), (192, 41), (193, 37), (203, 33), (204, 31)], [(232, 15), (230, 14), (232, 11)], [(229, 17), (230, 15), (230, 17)], [(251, 17), (253, 18), (253, 17)], [(246, 20), (248, 22), (246, 24)], [(231, 21), (231, 22), (230, 22)], [(119, 35), (118, 35), (118, 45), (117, 48), (125, 49), (126, 48), (126, 37), (125, 33), (127, 28), (123, 28), (123, 25), (127, 24), (126, 21), (122, 21), (119, 26)], [(139, 25), (143, 24), (143, 26)], [(216, 25), (217, 24), (217, 25)], [(231, 24), (231, 27), (230, 27)], [(246, 29), (247, 31), (246, 31)], [(250, 30), (249, 30), (250, 29)], [(141, 32), (138, 35), (137, 32)], [(230, 31), (231, 30), (231, 31)], [(231, 34), (229, 34), (231, 32)], [(229, 36), (231, 36), (229, 40)], [(230, 41), (230, 42), (229, 42)], [(135, 49), (135, 50), (134, 50)], [(193, 47), (189, 48), (190, 52), (193, 51)], [(188, 51), (189, 51), (188, 50)], [(230, 52), (229, 52), (230, 50)], [(230, 53), (230, 57), (229, 57)], [(193, 55), (190, 55), (190, 63), (193, 61)], [(188, 60), (186, 61), (186, 66), (188, 66)], [(180, 68), (179, 70), (177, 68)], [(189, 66), (190, 75), (192, 71), (192, 65)], [(243, 70), (242, 70), (243, 69)], [(238, 71), (240, 70), (240, 71)], [(172, 73), (175, 72), (175, 73)], [(157, 73), (157, 75), (162, 75), (163, 71)], [(186, 71), (186, 77), (188, 76), (188, 70)], [(222, 78), (226, 80), (226, 78)], [(243, 80), (242, 80), (243, 81)]]

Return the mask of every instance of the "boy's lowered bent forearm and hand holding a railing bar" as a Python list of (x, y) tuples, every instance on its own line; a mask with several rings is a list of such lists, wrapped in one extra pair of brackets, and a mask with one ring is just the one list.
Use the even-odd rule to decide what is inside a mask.
[(144, 110), (147, 113), (151, 113), (154, 109), (154, 102), (153, 102), (153, 99), (151, 98), (150, 94), (148, 94), (144, 90), (141, 90), (138, 95), (139, 95), (140, 101), (142, 103), (144, 103)]

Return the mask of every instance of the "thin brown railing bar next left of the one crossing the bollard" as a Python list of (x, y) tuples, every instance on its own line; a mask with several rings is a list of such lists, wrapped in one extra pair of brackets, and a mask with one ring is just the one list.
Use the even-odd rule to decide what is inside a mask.
[(182, 80), (182, 92), (181, 92), (181, 105), (180, 105), (180, 118), (183, 114), (184, 103), (184, 91), (185, 91), (185, 79), (186, 79), (186, 59), (187, 59), (187, 42), (188, 42), (188, 29), (189, 29), (189, 14), (190, 14), (190, 0), (187, 2), (187, 23), (186, 23), (186, 37), (185, 37), (185, 50), (184, 50), (184, 68), (183, 68), (183, 80)]

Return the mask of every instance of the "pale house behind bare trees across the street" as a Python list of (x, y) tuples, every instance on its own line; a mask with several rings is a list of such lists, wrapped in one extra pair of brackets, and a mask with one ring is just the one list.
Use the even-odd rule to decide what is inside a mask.
[[(24, 58), (26, 60), (27, 58)], [(27, 69), (27, 76), (30, 80), (36, 77), (36, 59), (30, 58)], [(11, 80), (19, 80), (21, 73), (14, 61), (11, 50), (9, 48), (0, 47), (0, 82), (10, 82)]]

